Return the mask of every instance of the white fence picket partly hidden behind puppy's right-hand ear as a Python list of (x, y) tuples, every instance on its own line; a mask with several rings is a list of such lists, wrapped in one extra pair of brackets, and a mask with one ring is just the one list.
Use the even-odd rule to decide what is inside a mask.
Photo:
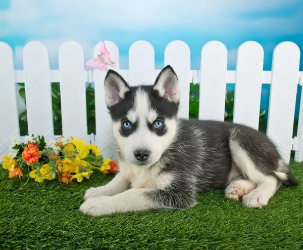
[(179, 79), (180, 108), (178, 116), (188, 119), (189, 117), (189, 88), (191, 82), (190, 72), (190, 49), (184, 41), (172, 41), (164, 52), (164, 66), (170, 65)]

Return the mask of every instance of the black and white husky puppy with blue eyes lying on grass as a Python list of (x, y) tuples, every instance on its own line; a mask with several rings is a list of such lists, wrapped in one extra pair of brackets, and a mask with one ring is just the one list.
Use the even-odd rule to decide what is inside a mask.
[(229, 122), (178, 119), (178, 78), (170, 66), (154, 86), (139, 87), (109, 70), (105, 94), (120, 172), (85, 192), (85, 214), (184, 209), (196, 204), (198, 192), (223, 188), (226, 197), (260, 208), (282, 183), (298, 184), (265, 134)]

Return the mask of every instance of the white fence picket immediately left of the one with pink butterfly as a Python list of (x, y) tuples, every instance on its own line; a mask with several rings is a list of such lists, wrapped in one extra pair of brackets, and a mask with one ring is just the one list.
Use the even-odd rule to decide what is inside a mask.
[(84, 52), (75, 41), (59, 49), (59, 74), (63, 135), (87, 137), (86, 81)]

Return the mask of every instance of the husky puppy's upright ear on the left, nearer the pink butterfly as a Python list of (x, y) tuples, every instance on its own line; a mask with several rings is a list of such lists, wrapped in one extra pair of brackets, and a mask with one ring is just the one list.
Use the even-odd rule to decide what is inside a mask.
[(129, 87), (123, 77), (116, 71), (110, 69), (104, 80), (105, 102), (108, 107), (115, 105), (124, 99)]

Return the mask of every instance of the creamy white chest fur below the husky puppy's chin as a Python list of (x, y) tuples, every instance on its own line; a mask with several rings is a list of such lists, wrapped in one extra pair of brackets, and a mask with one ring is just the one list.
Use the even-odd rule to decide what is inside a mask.
[(120, 162), (120, 173), (127, 179), (131, 188), (157, 188), (164, 189), (172, 182), (174, 176), (169, 173), (160, 173), (161, 166), (142, 168), (128, 162)]

